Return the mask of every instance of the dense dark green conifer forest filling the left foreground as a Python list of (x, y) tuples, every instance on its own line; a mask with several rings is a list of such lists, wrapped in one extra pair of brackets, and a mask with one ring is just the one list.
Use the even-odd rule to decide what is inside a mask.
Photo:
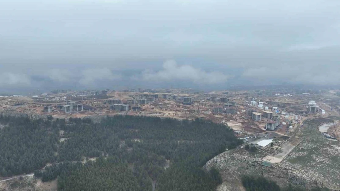
[[(37, 170), (36, 176), (43, 181), (58, 178), (58, 188), (64, 191), (151, 190), (152, 184), (159, 191), (214, 190), (221, 183), (221, 176), (216, 169), (206, 172), (202, 166), (226, 148), (241, 143), (232, 129), (202, 119), (114, 116), (95, 123), (88, 118), (11, 118), (0, 116), (0, 122), (5, 124), (1, 132), (14, 131), (19, 143), (13, 141), (14, 146), (4, 153), (15, 153), (20, 144), (31, 144), (30, 148), (36, 151), (31, 157), (36, 161), (26, 163), (27, 157), (7, 155), (4, 160), (23, 160), (25, 172)], [(2, 135), (2, 140), (6, 140), (12, 134)], [(27, 135), (31, 137), (26, 138)], [(89, 157), (99, 159), (92, 163)], [(85, 159), (85, 165), (77, 162)], [(166, 161), (170, 161), (167, 170)], [(38, 170), (53, 162), (54, 165)], [(32, 167), (28, 168), (28, 164)], [(0, 169), (4, 174), (12, 170), (1, 163)]]

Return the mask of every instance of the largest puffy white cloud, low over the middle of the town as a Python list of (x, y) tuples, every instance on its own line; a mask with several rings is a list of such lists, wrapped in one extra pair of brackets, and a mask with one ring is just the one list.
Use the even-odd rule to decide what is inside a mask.
[(177, 65), (174, 60), (164, 62), (163, 69), (158, 72), (145, 70), (142, 72), (144, 80), (171, 81), (189, 80), (194, 83), (213, 84), (226, 81), (231, 76), (218, 71), (205, 72), (190, 65)]

